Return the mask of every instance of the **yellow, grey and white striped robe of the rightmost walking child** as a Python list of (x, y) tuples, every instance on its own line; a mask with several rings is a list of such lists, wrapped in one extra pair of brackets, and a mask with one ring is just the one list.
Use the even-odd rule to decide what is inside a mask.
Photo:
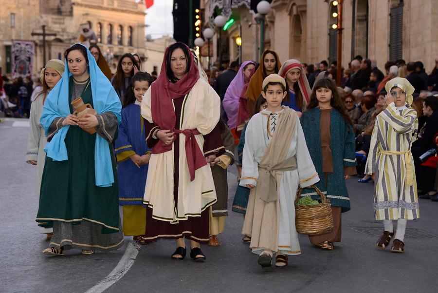
[(391, 103), (376, 117), (365, 167), (365, 174), (376, 176), (373, 204), (376, 220), (420, 217), (410, 152), (417, 130), (417, 112), (412, 107), (397, 108)]

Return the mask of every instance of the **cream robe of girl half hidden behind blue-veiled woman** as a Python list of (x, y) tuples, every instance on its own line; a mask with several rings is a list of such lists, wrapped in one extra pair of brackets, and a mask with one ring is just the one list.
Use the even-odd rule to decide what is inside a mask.
[[(27, 141), (26, 163), (30, 161), (37, 161), (37, 195), (39, 198), (39, 189), (41, 186), (41, 178), (44, 170), (44, 163), (46, 161), (46, 152), (44, 148), (47, 144), (47, 137), (44, 127), (39, 123), (41, 113), (43, 110), (43, 94), (37, 95), (37, 98), (31, 104), (31, 111), (29, 115), (29, 139)], [(41, 233), (52, 233), (53, 228), (40, 227)]]

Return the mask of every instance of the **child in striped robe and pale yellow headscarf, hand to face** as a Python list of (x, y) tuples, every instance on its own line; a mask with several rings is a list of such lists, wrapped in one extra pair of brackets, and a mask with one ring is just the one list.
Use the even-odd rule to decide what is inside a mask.
[(385, 89), (388, 106), (376, 117), (365, 174), (375, 179), (374, 213), (376, 220), (383, 220), (384, 226), (376, 245), (382, 249), (389, 245), (394, 237), (392, 220), (397, 220), (391, 252), (403, 253), (407, 220), (420, 217), (411, 154), (418, 119), (411, 107), (414, 87), (406, 78), (389, 80)]

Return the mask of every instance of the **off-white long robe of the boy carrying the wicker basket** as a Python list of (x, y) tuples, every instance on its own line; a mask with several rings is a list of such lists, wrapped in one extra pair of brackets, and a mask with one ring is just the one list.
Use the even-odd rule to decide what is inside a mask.
[[(241, 186), (253, 184), (257, 188), (258, 164), (274, 134), (281, 135), (275, 133), (275, 126), (278, 124), (277, 120), (282, 111), (270, 115), (270, 111), (264, 110), (254, 115), (248, 122), (245, 132), (245, 147), (243, 148), (242, 177), (239, 183)], [(310, 186), (318, 182), (319, 177), (309, 155), (303, 129), (298, 119), (293, 131), (286, 158), (295, 156), (297, 169), (283, 172), (280, 186), (277, 187), (279, 200), (265, 203), (260, 198), (256, 198), (256, 188), (253, 188), (250, 193), (242, 234), (252, 236), (250, 248), (255, 254), (260, 254), (264, 249), (290, 255), (301, 254), (295, 228), (294, 201), (298, 185), (301, 187)], [(254, 210), (257, 209), (264, 209), (263, 218), (253, 217)], [(273, 213), (267, 212), (269, 210), (277, 212), (279, 210), (279, 214), (272, 215)], [(276, 216), (277, 219), (275, 219)], [(268, 229), (264, 225), (272, 221), (277, 221), (279, 224), (277, 235), (267, 231)], [(275, 237), (277, 239), (276, 243)]]

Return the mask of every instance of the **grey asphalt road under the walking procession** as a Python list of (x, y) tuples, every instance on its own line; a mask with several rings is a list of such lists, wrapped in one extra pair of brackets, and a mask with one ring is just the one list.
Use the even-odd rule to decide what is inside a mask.
[[(171, 260), (171, 240), (142, 246), (132, 254), (130, 237), (115, 252), (87, 256), (70, 250), (63, 257), (46, 257), (41, 250), (47, 242), (35, 223), (36, 168), (24, 162), (26, 123), (0, 123), (1, 293), (101, 292), (96, 284), (105, 280), (108, 286), (124, 273), (105, 292), (437, 292), (438, 203), (420, 201), (421, 219), (408, 222), (405, 254), (378, 250), (374, 245), (383, 228), (373, 220), (372, 184), (359, 184), (355, 177), (347, 181), (352, 210), (343, 214), (342, 243), (334, 251), (322, 251), (300, 235), (303, 253), (289, 257), (287, 268), (270, 273), (261, 271), (257, 256), (241, 243), (243, 218), (236, 213), (230, 213), (225, 233), (219, 236), (222, 245), (202, 248), (207, 255), (204, 264), (188, 257)], [(231, 203), (236, 170), (230, 171)], [(125, 254), (127, 247), (131, 250)], [(123, 267), (132, 261), (129, 270), (122, 268), (105, 279), (119, 262)]]

